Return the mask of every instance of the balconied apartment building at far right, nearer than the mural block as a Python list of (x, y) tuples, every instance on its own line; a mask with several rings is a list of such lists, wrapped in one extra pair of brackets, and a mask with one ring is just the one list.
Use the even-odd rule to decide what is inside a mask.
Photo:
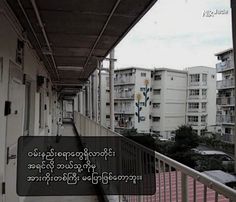
[(217, 114), (216, 122), (220, 126), (222, 140), (232, 142), (234, 134), (234, 61), (233, 49), (228, 49), (215, 54), (219, 63), (216, 64), (216, 72), (220, 80), (217, 81)]

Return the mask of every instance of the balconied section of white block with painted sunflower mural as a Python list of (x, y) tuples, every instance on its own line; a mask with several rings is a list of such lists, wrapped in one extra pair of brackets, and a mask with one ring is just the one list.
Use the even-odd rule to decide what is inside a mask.
[(114, 113), (116, 131), (136, 128), (150, 133), (151, 70), (129, 67), (115, 70)]

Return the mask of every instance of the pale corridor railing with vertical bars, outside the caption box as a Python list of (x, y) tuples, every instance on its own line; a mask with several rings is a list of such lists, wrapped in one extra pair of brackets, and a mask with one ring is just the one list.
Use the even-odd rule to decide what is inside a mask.
[[(82, 136), (100, 136), (101, 133), (120, 136), (77, 112), (75, 126)], [(120, 201), (236, 201), (234, 189), (158, 152), (155, 152), (155, 159), (156, 193), (150, 196), (121, 195)]]

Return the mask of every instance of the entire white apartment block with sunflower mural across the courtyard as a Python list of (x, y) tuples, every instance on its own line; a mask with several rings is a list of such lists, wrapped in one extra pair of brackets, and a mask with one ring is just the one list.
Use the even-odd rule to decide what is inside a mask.
[[(101, 123), (109, 127), (109, 73), (102, 73), (101, 85)], [(201, 135), (216, 124), (216, 103), (210, 100), (216, 100), (214, 68), (115, 70), (114, 116), (118, 132), (135, 128), (138, 133), (170, 139), (178, 126), (188, 124)]]

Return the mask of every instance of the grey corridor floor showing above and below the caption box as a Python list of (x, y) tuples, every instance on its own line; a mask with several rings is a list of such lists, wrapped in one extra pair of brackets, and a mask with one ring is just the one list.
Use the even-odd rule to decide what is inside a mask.
[[(63, 136), (76, 135), (72, 124), (65, 123), (62, 128)], [(91, 189), (93, 187), (91, 186)], [(97, 196), (40, 196), (21, 198), (21, 202), (98, 202)]]

